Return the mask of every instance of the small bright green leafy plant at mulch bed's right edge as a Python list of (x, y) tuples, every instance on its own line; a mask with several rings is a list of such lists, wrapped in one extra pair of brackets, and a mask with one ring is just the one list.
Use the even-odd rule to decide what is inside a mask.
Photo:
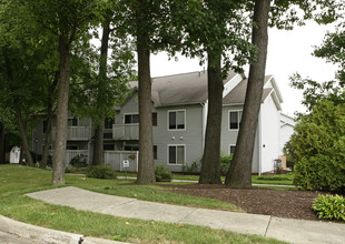
[(312, 209), (318, 218), (345, 221), (345, 199), (339, 195), (318, 195)]

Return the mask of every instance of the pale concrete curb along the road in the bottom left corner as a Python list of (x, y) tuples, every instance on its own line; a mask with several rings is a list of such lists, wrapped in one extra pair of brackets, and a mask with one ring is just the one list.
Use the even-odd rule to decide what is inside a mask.
[(87, 237), (80, 234), (69, 232), (61, 232), (51, 228), (40, 227), (0, 215), (0, 231), (19, 235), (28, 240), (36, 240), (51, 244), (116, 244), (122, 242), (115, 242), (110, 240)]

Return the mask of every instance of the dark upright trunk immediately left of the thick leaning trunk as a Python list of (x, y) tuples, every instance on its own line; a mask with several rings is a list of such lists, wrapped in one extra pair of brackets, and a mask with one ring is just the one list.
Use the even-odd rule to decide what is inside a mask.
[(200, 184), (221, 184), (220, 133), (224, 84), (220, 63), (220, 54), (208, 53), (208, 114)]

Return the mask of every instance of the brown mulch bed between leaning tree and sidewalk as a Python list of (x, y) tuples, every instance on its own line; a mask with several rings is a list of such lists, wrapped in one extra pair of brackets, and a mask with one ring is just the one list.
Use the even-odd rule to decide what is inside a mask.
[(312, 210), (313, 200), (318, 194), (310, 191), (275, 191), (267, 189), (229, 189), (225, 185), (161, 185), (171, 187), (168, 191), (216, 199), (229, 202), (247, 213), (266, 214), (277, 217), (319, 221)]

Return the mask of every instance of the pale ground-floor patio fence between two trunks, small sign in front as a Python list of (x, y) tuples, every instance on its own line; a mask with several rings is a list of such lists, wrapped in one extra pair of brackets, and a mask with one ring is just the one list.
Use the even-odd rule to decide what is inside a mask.
[[(105, 151), (105, 163), (117, 171), (138, 172), (138, 151)], [(129, 167), (124, 167), (124, 161), (128, 160)]]

